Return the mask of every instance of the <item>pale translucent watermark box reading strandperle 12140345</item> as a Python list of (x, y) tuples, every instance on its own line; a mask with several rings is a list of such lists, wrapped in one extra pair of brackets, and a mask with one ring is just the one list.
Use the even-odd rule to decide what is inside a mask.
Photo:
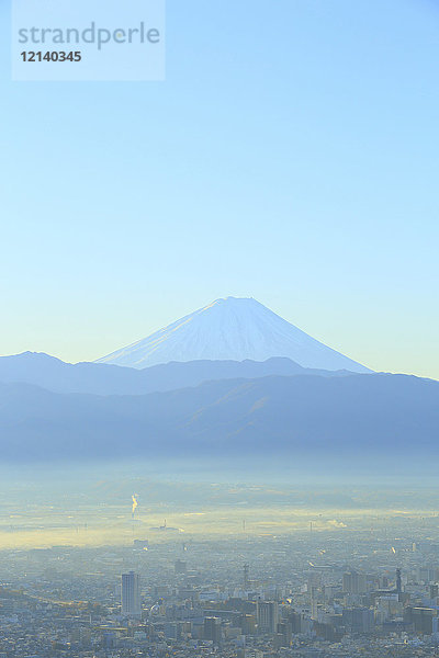
[(165, 0), (12, 0), (12, 79), (165, 80)]

